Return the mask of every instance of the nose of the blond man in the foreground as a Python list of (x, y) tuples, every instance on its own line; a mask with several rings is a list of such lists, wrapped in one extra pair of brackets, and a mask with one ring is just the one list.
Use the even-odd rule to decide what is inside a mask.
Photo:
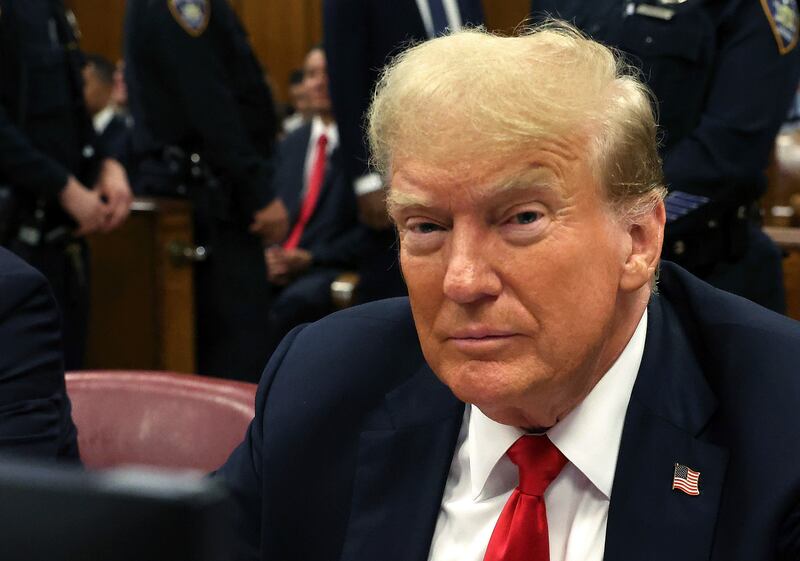
[(459, 304), (497, 297), (502, 282), (495, 270), (491, 247), (477, 232), (453, 231), (444, 276), (444, 294)]

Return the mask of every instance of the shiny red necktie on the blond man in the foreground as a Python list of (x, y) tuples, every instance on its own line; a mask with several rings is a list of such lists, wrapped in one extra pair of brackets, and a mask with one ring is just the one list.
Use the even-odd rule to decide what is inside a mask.
[(519, 485), (500, 513), (483, 561), (550, 561), (544, 492), (567, 459), (544, 435), (522, 436), (507, 453), (519, 468)]

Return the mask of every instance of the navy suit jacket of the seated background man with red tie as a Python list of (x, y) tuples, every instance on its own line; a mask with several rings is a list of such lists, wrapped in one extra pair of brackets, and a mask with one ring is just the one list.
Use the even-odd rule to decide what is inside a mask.
[[(290, 133), (278, 145), (275, 187), (294, 226), (303, 203), (302, 191), (311, 124)], [(345, 178), (340, 151), (334, 150), (325, 167), (314, 214), (303, 229), (300, 247), (311, 252), (314, 264), (324, 267), (355, 267), (365, 246), (371, 243), (367, 228), (358, 222), (356, 197)]]

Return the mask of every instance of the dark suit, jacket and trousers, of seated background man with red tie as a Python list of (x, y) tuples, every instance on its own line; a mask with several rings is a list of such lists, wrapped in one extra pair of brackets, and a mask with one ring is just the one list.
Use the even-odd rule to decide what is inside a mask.
[[(309, 123), (290, 133), (276, 152), (275, 186), (292, 227), (303, 202), (308, 150), (314, 149), (309, 145), (311, 129)], [(280, 289), (270, 307), (272, 348), (291, 328), (333, 311), (331, 282), (342, 272), (355, 269), (371, 244), (373, 236), (358, 222), (355, 194), (337, 148), (327, 159), (320, 197), (298, 246), (311, 252), (312, 266)]]

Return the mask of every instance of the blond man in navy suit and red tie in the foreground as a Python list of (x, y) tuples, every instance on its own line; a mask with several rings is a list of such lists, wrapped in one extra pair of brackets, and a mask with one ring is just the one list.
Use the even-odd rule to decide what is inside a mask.
[(561, 23), (386, 70), (370, 139), (409, 298), (273, 355), (220, 470), (241, 558), (800, 556), (800, 326), (659, 277), (649, 100)]

